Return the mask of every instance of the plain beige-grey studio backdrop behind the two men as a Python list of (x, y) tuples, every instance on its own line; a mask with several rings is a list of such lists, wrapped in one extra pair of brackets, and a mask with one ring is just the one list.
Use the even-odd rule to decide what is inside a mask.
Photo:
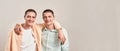
[(1, 0), (0, 51), (29, 8), (37, 11), (37, 23), (43, 10), (54, 10), (69, 33), (69, 51), (120, 51), (120, 0)]

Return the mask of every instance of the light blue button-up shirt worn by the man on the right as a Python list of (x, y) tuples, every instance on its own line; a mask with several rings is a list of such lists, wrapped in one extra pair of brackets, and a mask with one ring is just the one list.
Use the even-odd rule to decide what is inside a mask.
[(42, 51), (68, 51), (68, 34), (64, 28), (62, 28), (62, 31), (66, 38), (64, 45), (58, 40), (57, 30), (48, 30), (47, 28), (44, 28), (41, 36)]

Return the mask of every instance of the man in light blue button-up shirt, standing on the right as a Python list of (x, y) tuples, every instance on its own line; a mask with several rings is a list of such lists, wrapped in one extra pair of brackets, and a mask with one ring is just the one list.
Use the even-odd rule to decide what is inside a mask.
[(54, 12), (50, 9), (43, 11), (43, 20), (45, 28), (42, 30), (41, 45), (42, 51), (68, 51), (69, 42), (67, 31), (62, 28), (65, 37), (65, 42), (59, 40), (58, 32), (53, 24)]

